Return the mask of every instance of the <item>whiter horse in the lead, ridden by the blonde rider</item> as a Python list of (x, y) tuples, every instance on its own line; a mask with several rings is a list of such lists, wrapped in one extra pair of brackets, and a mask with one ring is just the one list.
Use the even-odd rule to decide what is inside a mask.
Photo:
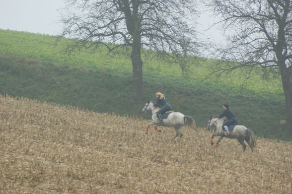
[[(158, 106), (155, 106), (155, 103), (153, 101), (148, 100), (147, 103), (145, 104), (145, 107), (143, 108), (143, 112), (151, 111), (152, 112), (152, 121), (147, 125), (146, 127), (146, 132), (148, 133), (148, 129), (150, 126), (154, 126), (154, 129), (156, 131), (160, 131), (157, 129), (157, 122), (158, 118), (156, 116), (157, 111), (159, 111), (160, 108)], [(195, 120), (188, 115), (183, 115), (182, 113), (179, 112), (172, 112), (169, 114), (167, 119), (163, 119), (163, 124), (162, 126), (165, 127), (173, 127), (176, 131), (174, 138), (179, 136), (179, 140), (181, 139), (183, 133), (181, 132), (180, 128), (183, 127), (184, 125), (187, 125), (191, 127), (192, 129), (197, 129), (196, 122)]]

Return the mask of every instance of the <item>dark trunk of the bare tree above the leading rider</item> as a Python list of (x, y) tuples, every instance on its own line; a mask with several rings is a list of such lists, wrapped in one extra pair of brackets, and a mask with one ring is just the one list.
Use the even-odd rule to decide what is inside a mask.
[(133, 38), (131, 59), (134, 94), (137, 100), (141, 100), (143, 98), (143, 62), (141, 59), (141, 41), (139, 35)]

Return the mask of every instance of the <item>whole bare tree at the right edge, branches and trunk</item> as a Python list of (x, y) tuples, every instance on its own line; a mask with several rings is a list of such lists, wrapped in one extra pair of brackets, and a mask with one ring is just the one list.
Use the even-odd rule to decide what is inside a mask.
[(226, 65), (216, 71), (246, 68), (261, 69), (265, 77), (280, 75), (292, 131), (292, 0), (210, 0), (208, 5), (223, 18), (218, 24), (234, 32), (219, 49)]

